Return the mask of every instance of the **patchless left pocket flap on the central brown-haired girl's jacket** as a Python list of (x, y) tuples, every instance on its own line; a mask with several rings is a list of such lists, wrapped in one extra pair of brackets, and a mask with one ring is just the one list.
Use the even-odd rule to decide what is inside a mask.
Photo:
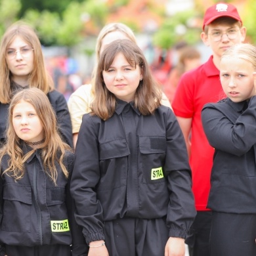
[(100, 144), (100, 160), (121, 158), (130, 154), (125, 139), (111, 140)]

